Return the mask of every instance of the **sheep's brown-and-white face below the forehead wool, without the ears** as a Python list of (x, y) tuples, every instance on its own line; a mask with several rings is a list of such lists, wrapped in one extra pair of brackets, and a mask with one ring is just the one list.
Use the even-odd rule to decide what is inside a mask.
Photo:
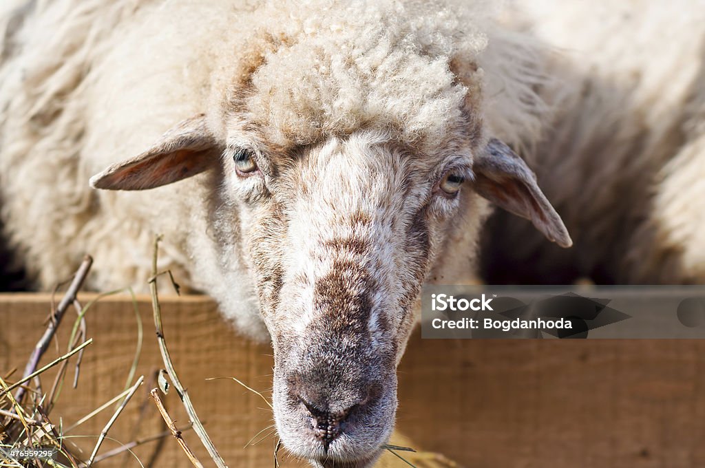
[(278, 433), (324, 466), (366, 466), (391, 433), (396, 364), (473, 195), (472, 159), (419, 158), (370, 133), (281, 153), (238, 141), (221, 216), (237, 220), (274, 343)]

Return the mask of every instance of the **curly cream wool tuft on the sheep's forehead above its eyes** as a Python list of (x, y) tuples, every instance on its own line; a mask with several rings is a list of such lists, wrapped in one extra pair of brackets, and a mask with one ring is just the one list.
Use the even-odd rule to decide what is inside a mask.
[(269, 142), (310, 144), (367, 128), (430, 148), (465, 123), (466, 94), (479, 82), (461, 84), (450, 62), (457, 55), (472, 61), (486, 45), (467, 15), (461, 30), (458, 11), (434, 2), (278, 1), (266, 8), (259, 32), (269, 47), (245, 104)]

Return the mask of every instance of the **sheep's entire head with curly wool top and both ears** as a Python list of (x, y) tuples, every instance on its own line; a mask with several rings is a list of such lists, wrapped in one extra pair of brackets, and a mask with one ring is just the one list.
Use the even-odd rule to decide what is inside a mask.
[(479, 89), (448, 57), (378, 38), (384, 50), (339, 60), (329, 49), (343, 46), (319, 39), (250, 54), (266, 60), (216, 87), (218, 111), (92, 185), (142, 190), (209, 170), (223, 259), (210, 292), (228, 310), (228, 281), (253, 285), (284, 445), (319, 467), (367, 467), (393, 428), (422, 284), (450, 249), (474, 255), (484, 199), (570, 238), (524, 162), (486, 135)]

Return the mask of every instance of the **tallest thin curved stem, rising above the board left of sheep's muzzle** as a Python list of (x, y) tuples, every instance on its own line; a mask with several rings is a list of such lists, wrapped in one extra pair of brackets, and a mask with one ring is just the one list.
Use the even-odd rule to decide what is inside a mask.
[(171, 378), (171, 383), (176, 389), (176, 392), (178, 393), (181, 402), (183, 402), (183, 406), (186, 412), (188, 413), (188, 417), (190, 418), (191, 423), (193, 424), (193, 430), (197, 433), (198, 438), (200, 438), (201, 443), (206, 448), (209, 455), (211, 455), (211, 458), (215, 462), (216, 466), (218, 468), (227, 468), (228, 465), (223, 460), (218, 450), (215, 448), (215, 445), (213, 445), (213, 442), (208, 436), (206, 430), (204, 429), (200, 419), (198, 419), (198, 415), (196, 414), (196, 410), (193, 407), (191, 398), (189, 397), (187, 391), (185, 390), (183, 385), (181, 385), (181, 382), (178, 379), (176, 369), (174, 369), (173, 367), (171, 357), (169, 356), (168, 348), (166, 347), (166, 340), (164, 339), (164, 329), (161, 326), (161, 307), (159, 307), (159, 296), (157, 295), (157, 254), (159, 252), (160, 240), (161, 236), (159, 235), (154, 239), (154, 256), (152, 257), (152, 273), (154, 273), (154, 276), (152, 277), (152, 281), (149, 282), (149, 290), (152, 293), (154, 326), (157, 328), (157, 342), (159, 343), (161, 359), (162, 361), (164, 361), (164, 367), (166, 368), (166, 371), (169, 374), (169, 378)]

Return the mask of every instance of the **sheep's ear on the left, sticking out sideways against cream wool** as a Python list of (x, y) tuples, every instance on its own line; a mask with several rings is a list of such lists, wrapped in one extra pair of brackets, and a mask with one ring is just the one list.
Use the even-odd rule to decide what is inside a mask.
[(168, 130), (146, 152), (93, 176), (90, 185), (106, 190), (159, 187), (205, 171), (218, 161), (219, 152), (206, 117), (200, 114)]

